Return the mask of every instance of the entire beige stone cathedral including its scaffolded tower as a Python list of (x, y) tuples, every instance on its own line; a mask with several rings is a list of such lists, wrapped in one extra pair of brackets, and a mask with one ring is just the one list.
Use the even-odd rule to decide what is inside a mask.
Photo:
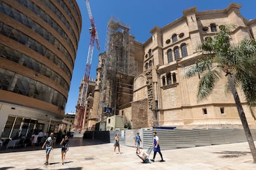
[[(191, 7), (183, 16), (160, 28), (150, 38), (137, 42), (129, 26), (116, 18), (108, 23), (106, 52), (100, 54), (90, 126), (108, 116), (123, 116), (132, 129), (142, 127), (241, 128), (233, 95), (225, 91), (223, 75), (207, 99), (197, 101), (197, 76), (185, 73), (205, 53), (198, 46), (215, 36), (221, 26), (236, 25), (229, 41), (255, 39), (256, 20), (247, 20), (240, 4), (226, 9), (197, 11)], [(249, 108), (237, 89), (250, 127), (255, 125), (255, 108)], [(106, 108), (111, 113), (106, 113)]]

